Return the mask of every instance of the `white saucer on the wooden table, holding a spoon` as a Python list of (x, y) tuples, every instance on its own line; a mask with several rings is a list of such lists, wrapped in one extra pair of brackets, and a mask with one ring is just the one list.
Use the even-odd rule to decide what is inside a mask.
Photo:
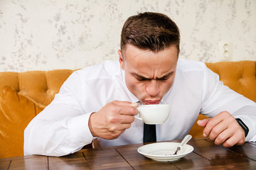
[(191, 145), (184, 145), (178, 154), (174, 154), (179, 142), (156, 142), (139, 147), (137, 151), (145, 157), (154, 159), (160, 162), (173, 162), (193, 151)]

